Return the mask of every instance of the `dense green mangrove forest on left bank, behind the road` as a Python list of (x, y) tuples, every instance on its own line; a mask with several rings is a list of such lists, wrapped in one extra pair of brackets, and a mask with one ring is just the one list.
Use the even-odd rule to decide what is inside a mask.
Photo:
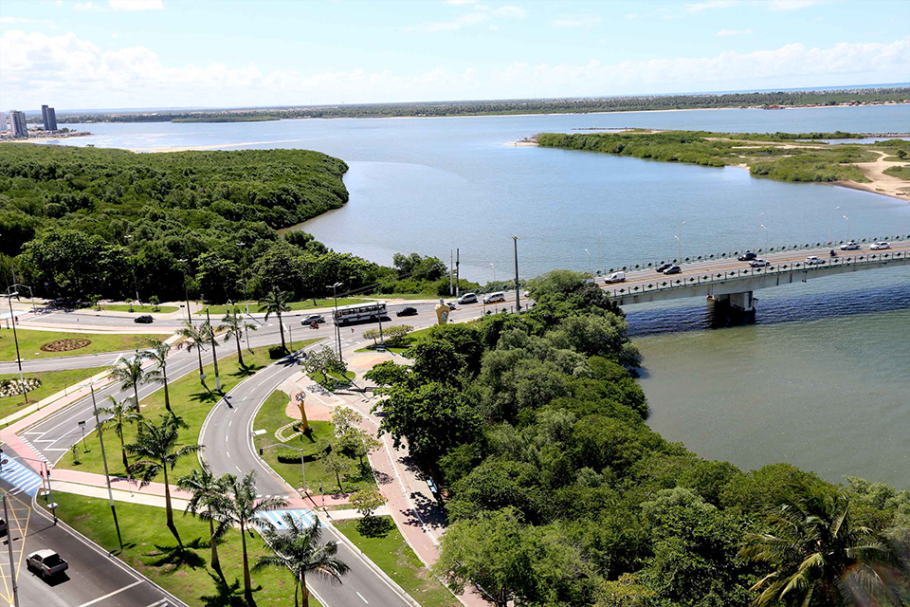
[[(0, 145), (0, 279), (37, 296), (211, 303), (346, 292), (448, 290), (445, 265), (401, 256), (382, 267), (300, 231), (348, 200), (347, 165), (304, 150), (136, 154)], [(183, 261), (181, 261), (183, 260)], [(409, 261), (410, 260), (410, 261)], [(406, 279), (404, 283), (400, 278)]]

